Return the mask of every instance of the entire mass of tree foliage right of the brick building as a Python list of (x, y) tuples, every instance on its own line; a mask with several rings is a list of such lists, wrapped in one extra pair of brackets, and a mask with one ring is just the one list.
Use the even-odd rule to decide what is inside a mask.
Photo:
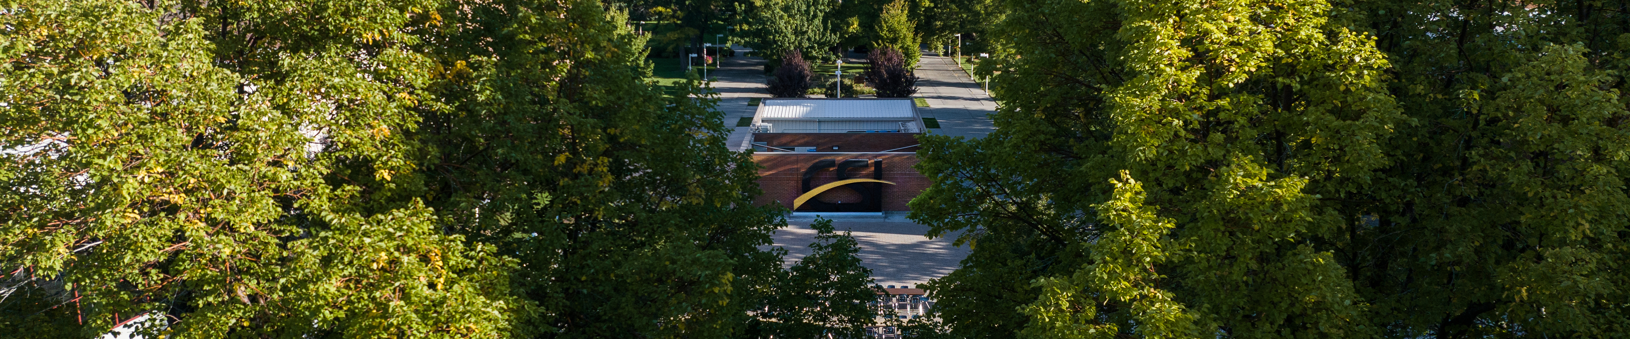
[(1622, 337), (1612, 2), (1004, 2), (926, 137), (965, 337)]

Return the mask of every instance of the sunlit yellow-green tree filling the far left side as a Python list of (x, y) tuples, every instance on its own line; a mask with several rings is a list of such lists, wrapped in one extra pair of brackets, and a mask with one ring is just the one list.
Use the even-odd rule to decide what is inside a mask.
[(62, 288), (8, 292), (0, 332), (504, 337), (530, 308), (401, 196), (435, 3), (0, 8), (0, 264)]

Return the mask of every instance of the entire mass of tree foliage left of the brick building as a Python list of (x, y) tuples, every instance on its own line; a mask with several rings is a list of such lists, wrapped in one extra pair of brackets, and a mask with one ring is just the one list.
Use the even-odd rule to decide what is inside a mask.
[(148, 316), (147, 337), (756, 337), (771, 305), (802, 308), (778, 318), (799, 331), (870, 321), (852, 240), (784, 269), (782, 209), (753, 204), (716, 99), (645, 81), (644, 37), (598, 2), (0, 10), (7, 336)]

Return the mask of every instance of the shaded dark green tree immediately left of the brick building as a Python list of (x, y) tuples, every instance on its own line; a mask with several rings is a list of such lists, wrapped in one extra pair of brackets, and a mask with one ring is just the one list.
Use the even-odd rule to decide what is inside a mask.
[[(781, 261), (756, 166), (704, 93), (663, 96), (644, 41), (597, 2), (468, 2), (442, 13), (424, 194), (453, 233), (518, 259), (536, 337), (740, 334)], [(518, 13), (518, 15), (517, 15)], [(500, 33), (500, 34), (494, 34)], [(686, 83), (698, 90), (694, 78)]]

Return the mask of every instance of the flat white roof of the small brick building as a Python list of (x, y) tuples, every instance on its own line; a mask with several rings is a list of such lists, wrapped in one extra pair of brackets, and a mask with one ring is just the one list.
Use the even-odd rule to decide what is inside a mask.
[(769, 119), (916, 117), (911, 99), (764, 99), (758, 106), (758, 117)]

